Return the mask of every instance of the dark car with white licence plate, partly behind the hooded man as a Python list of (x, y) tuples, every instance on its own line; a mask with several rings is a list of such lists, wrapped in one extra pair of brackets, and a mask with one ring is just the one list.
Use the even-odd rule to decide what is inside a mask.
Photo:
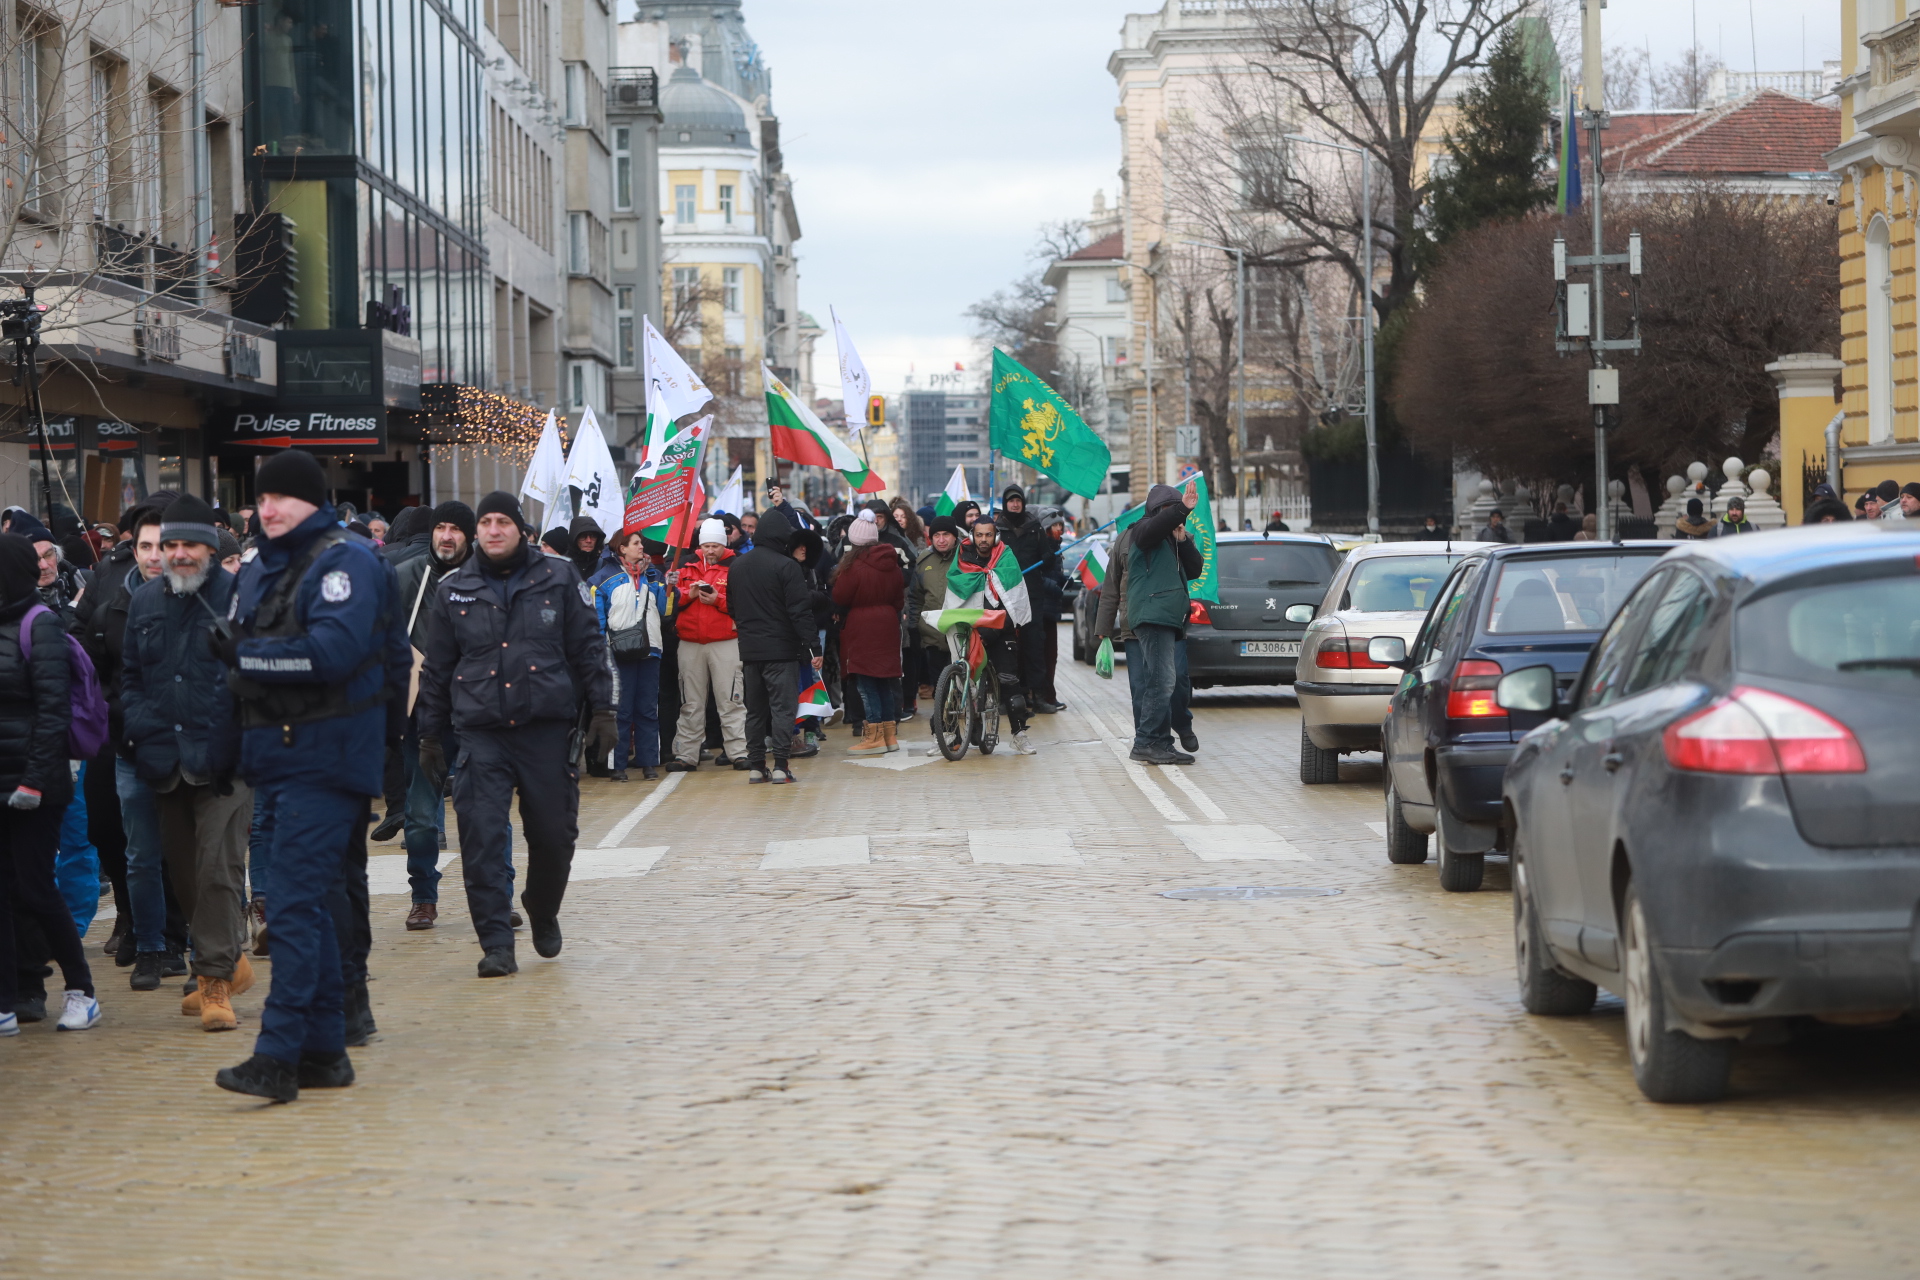
[[(1290, 685), (1300, 662), (1304, 622), (1286, 622), (1292, 604), (1319, 604), (1340, 553), (1315, 533), (1219, 533), (1213, 543), (1219, 603), (1187, 608), (1187, 672), (1194, 689), (1213, 685)], [(1100, 591), (1073, 601), (1073, 649), (1092, 662), (1092, 622)]]

